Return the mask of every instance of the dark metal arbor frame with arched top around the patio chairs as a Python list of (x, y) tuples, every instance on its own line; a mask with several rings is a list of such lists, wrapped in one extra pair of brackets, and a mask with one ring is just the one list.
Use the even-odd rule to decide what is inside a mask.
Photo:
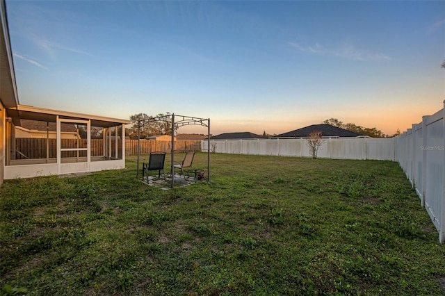
[[(178, 119), (178, 120), (176, 120)], [(169, 114), (164, 116), (156, 116), (147, 118), (145, 120), (138, 120), (138, 163), (137, 163), (137, 169), (136, 169), (136, 178), (139, 176), (139, 156), (140, 156), (140, 128), (145, 126), (145, 124), (149, 122), (171, 122), (171, 131), (172, 131), (172, 145), (171, 145), (171, 168), (170, 168), (170, 174), (172, 176), (170, 187), (173, 188), (174, 186), (174, 167), (175, 165), (175, 129), (179, 129), (181, 126), (186, 125), (200, 125), (200, 126), (207, 126), (207, 182), (210, 183), (210, 118), (199, 118), (199, 117), (190, 117), (190, 116), (184, 116), (184, 115), (175, 115)]]

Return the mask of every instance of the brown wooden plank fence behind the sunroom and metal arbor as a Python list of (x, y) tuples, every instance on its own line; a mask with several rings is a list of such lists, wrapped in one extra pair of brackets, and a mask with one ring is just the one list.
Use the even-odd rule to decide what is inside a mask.
[[(121, 140), (118, 140), (118, 147), (121, 147), (121, 143)], [(81, 139), (79, 142), (76, 139), (62, 139), (60, 144), (62, 148), (86, 148), (85, 139)], [(171, 141), (140, 140), (140, 154), (149, 154), (152, 151), (168, 153), (171, 151), (171, 147)], [(201, 141), (177, 140), (175, 141), (175, 151), (201, 151)], [(76, 157), (78, 153), (80, 157), (86, 156), (86, 151), (63, 151), (62, 156), (63, 158)], [(137, 154), (138, 140), (125, 140), (125, 155)], [(12, 155), (13, 159), (56, 158), (57, 142), (56, 139), (16, 138), (15, 154)], [(104, 141), (102, 139), (92, 139), (91, 156), (103, 155)], [(115, 156), (115, 140), (111, 141), (111, 155)], [(119, 151), (119, 157), (122, 157), (122, 151)]]

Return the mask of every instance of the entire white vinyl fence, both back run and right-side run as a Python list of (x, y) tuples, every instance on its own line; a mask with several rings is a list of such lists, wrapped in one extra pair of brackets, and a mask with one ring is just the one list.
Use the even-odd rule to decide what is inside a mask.
[[(445, 242), (445, 101), (396, 138), (327, 138), (319, 158), (397, 161)], [(207, 150), (207, 140), (202, 141)], [(312, 157), (305, 139), (211, 140), (210, 150), (228, 154)]]

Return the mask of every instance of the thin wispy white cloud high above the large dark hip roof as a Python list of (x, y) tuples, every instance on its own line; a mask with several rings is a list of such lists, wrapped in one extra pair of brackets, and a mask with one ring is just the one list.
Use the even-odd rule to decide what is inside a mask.
[(289, 42), (291, 47), (298, 49), (307, 54), (327, 54), (330, 56), (339, 56), (349, 60), (391, 60), (390, 56), (385, 54), (373, 54), (367, 51), (356, 49), (353, 44), (345, 43), (338, 49), (326, 49), (320, 43), (316, 42), (314, 46), (300, 44), (297, 42)]

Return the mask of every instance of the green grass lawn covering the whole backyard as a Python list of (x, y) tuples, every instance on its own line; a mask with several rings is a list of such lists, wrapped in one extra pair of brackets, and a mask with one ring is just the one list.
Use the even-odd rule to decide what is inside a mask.
[(211, 154), (211, 170), (172, 190), (136, 179), (136, 157), (5, 181), (1, 293), (445, 295), (445, 245), (397, 163)]

